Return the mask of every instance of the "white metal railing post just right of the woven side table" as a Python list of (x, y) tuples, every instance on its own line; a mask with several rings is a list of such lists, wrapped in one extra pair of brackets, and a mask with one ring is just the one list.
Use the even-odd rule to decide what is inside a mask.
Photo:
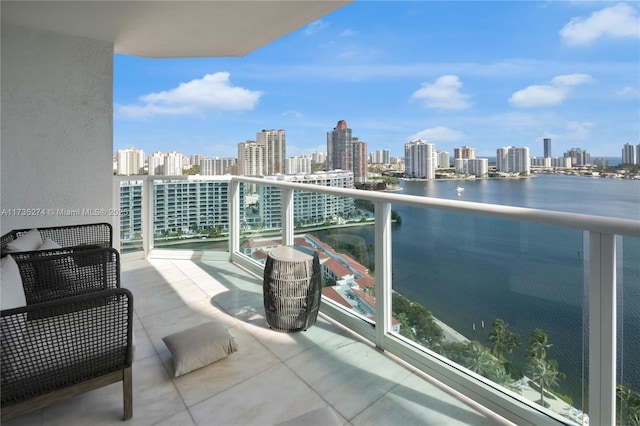
[(375, 203), (376, 346), (391, 331), (391, 204)]

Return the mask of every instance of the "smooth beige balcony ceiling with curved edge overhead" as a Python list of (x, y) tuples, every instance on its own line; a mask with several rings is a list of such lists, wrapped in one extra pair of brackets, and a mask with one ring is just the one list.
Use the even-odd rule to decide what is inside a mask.
[(149, 58), (244, 56), (352, 0), (2, 1), (13, 24)]

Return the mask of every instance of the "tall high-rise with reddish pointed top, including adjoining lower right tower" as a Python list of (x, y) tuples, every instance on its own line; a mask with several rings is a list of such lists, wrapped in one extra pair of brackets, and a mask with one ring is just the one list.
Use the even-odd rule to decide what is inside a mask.
[(353, 137), (345, 120), (327, 132), (327, 171), (332, 170), (353, 172), (356, 183), (367, 180), (367, 144)]

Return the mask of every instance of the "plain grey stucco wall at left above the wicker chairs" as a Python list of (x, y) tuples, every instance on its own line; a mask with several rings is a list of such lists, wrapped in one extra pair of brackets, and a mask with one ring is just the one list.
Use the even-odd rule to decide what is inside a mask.
[(1, 233), (112, 222), (113, 45), (8, 25), (1, 40)]

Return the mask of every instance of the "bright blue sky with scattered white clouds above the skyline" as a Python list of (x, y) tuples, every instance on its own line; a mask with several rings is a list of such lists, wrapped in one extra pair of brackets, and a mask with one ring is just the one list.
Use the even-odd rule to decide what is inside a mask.
[(114, 60), (114, 150), (287, 156), (346, 120), (369, 152), (422, 138), (478, 156), (528, 146), (619, 157), (640, 143), (640, 3), (356, 1), (243, 57)]

